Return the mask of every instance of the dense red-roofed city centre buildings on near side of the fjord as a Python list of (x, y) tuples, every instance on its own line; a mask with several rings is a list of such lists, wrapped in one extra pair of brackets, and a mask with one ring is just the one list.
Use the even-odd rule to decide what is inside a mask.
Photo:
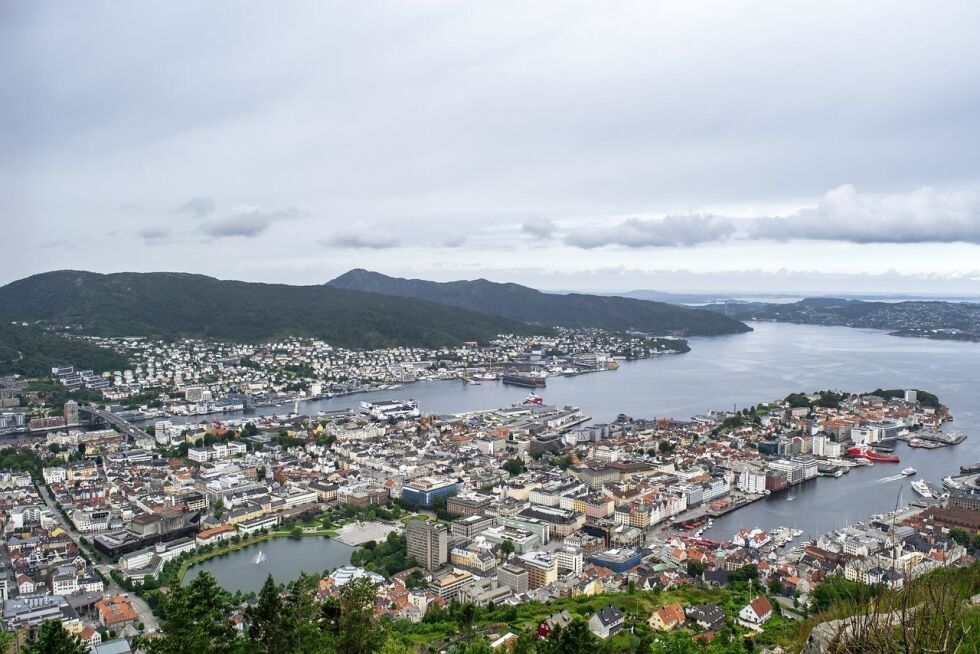
[[(64, 608), (81, 601), (74, 598), (125, 602), (98, 586), (79, 553), (81, 537), (112, 561), (115, 573), (139, 585), (186, 552), (320, 515), (333, 504), (367, 511), (398, 502), (420, 512), (395, 527), (404, 530), (406, 554), (424, 587), (410, 588), (413, 571), (405, 571), (381, 580), (379, 589), (378, 610), (410, 620), (421, 619), (433, 602), (453, 599), (500, 605), (629, 585), (721, 585), (746, 566), (805, 602), (828, 575), (898, 587), (963, 560), (966, 550), (936, 522), (943, 507), (929, 507), (925, 517), (903, 515), (897, 529), (873, 521), (793, 549), (782, 548), (784, 535), (757, 529), (722, 542), (693, 533), (712, 516), (837, 474), (853, 465), (842, 454), (855, 442), (884, 444), (909, 430), (938, 428), (945, 417), (914, 396), (839, 399), (826, 402), (831, 406), (821, 406), (820, 396), (806, 406), (778, 401), (690, 421), (620, 416), (586, 426), (579, 408), (531, 396), (491, 411), (386, 420), (366, 407), (249, 425), (212, 421), (176, 429), (161, 421), (152, 438), (111, 429), (51, 431), (38, 446), (58, 446), (55, 454), (45, 452), (38, 480), (51, 504), (29, 476), (11, 473), (6, 482), (5, 598), (13, 603), (9, 619), (5, 605), (4, 623), (16, 628), (30, 624), (35, 609), (49, 616), (57, 610), (76, 628)], [(186, 456), (167, 458), (176, 444), (186, 445)], [(965, 499), (953, 509), (980, 516), (972, 495), (960, 495)], [(15, 555), (24, 559), (17, 570)], [(320, 593), (336, 593), (360, 574), (368, 573), (342, 568), (321, 581)], [(66, 604), (31, 599), (43, 593)], [(722, 612), (720, 622), (758, 628), (771, 613), (768, 602), (760, 597), (737, 615)], [(92, 607), (91, 615), (105, 614)], [(720, 610), (670, 607), (650, 616), (650, 624), (717, 628)], [(117, 614), (128, 615), (118, 606), (105, 615), (111, 621)], [(98, 626), (78, 615), (78, 625)], [(610, 605), (592, 616), (590, 628), (611, 637), (620, 628), (617, 615)]]

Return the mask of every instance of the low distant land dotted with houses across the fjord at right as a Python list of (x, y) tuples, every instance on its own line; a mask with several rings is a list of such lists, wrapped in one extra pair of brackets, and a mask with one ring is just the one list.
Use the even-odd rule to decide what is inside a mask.
[(980, 341), (980, 304), (969, 302), (806, 298), (789, 304), (729, 302), (705, 309), (738, 320), (886, 329), (894, 336)]

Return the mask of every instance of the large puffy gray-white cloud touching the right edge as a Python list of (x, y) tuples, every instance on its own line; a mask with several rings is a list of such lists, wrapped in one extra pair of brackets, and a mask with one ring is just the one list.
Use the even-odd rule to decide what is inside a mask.
[(753, 221), (749, 236), (852, 243), (980, 243), (980, 194), (939, 193), (923, 187), (912, 193), (866, 195), (845, 184), (824, 194), (815, 207)]

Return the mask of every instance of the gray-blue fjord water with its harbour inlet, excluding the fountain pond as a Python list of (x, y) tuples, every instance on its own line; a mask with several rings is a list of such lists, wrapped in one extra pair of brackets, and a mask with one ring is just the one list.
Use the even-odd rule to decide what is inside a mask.
[[(866, 520), (916, 496), (917, 478), (939, 484), (964, 463), (980, 461), (980, 344), (889, 336), (876, 330), (753, 323), (747, 334), (691, 339), (691, 351), (623, 363), (619, 370), (548, 380), (538, 393), (546, 402), (582, 407), (594, 420), (618, 414), (639, 418), (687, 419), (710, 409), (747, 407), (794, 391), (837, 388), (921, 388), (950, 407), (968, 438), (955, 447), (911, 449), (899, 444), (901, 464), (855, 468), (839, 479), (820, 478), (788, 493), (756, 502), (715, 521), (710, 537), (725, 538), (742, 527), (797, 526), (816, 535), (845, 520)], [(527, 389), (483, 382), (411, 384), (399, 391), (363, 393), (301, 404), (300, 410), (357, 407), (361, 401), (414, 397), (423, 411), (452, 413), (492, 409), (518, 402)], [(292, 407), (268, 407), (282, 413)], [(918, 475), (896, 478), (912, 466)], [(792, 499), (791, 499), (792, 498)]]

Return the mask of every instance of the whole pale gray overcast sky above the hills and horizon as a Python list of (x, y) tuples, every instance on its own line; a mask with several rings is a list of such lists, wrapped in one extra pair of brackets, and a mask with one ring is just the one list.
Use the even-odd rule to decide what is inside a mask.
[(6, 2), (0, 282), (980, 292), (980, 3)]

